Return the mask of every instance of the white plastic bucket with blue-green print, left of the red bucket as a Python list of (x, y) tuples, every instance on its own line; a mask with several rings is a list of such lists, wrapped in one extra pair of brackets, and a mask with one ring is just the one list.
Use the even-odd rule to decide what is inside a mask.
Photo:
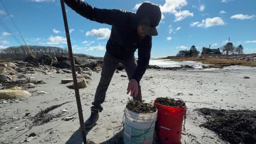
[(152, 144), (154, 139), (155, 122), (158, 111), (155, 113), (136, 113), (125, 107), (124, 113), (124, 143), (125, 144)]

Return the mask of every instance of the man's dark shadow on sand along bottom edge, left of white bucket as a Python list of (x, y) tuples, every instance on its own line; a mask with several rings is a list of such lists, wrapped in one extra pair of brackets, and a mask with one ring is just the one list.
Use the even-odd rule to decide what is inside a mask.
[[(86, 129), (85, 134), (87, 135), (91, 129), (92, 128)], [(119, 131), (119, 133), (115, 134), (111, 139), (106, 140), (101, 143), (102, 144), (119, 144), (119, 143), (122, 144), (122, 143), (124, 143), (123, 133), (124, 133), (124, 129)], [(82, 139), (81, 128), (79, 128), (77, 131), (75, 131), (75, 133), (66, 142), (66, 144), (82, 144), (82, 143), (83, 143), (83, 139)]]

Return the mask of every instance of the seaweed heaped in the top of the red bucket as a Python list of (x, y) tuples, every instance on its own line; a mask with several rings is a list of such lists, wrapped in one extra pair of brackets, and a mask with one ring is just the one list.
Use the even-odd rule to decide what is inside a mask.
[(155, 100), (156, 103), (165, 105), (165, 106), (171, 106), (171, 107), (183, 107), (185, 106), (184, 101), (182, 100), (174, 100), (171, 98), (156, 98)]

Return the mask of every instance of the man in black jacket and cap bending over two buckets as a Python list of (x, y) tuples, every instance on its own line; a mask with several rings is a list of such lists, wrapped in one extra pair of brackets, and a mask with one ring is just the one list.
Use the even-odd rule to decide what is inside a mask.
[[(158, 5), (149, 2), (141, 4), (136, 14), (119, 9), (94, 8), (81, 0), (65, 0), (65, 3), (86, 19), (112, 25), (91, 116), (85, 122), (85, 128), (92, 128), (98, 120), (98, 112), (103, 110), (101, 104), (119, 63), (124, 65), (129, 78), (127, 94), (131, 92), (133, 99), (142, 100), (139, 81), (149, 64), (152, 35), (158, 35), (156, 27), (161, 20), (161, 11)], [(136, 49), (138, 64), (134, 56)]]

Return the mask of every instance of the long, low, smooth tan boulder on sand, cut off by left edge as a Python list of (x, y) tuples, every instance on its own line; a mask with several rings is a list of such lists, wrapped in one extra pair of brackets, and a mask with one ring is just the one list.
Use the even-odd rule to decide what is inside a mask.
[(0, 99), (26, 99), (31, 94), (27, 91), (21, 90), (0, 90)]

